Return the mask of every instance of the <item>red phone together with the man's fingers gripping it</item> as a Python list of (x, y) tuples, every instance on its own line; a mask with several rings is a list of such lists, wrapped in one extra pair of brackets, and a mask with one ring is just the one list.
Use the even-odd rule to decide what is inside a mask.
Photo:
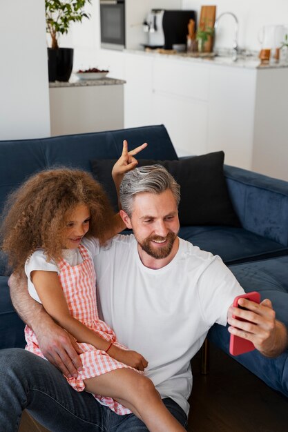
[(247, 353), (254, 348), (264, 355), (275, 355), (280, 323), (276, 321), (270, 300), (260, 303), (256, 291), (236, 297), (228, 311), (228, 322), (232, 355)]

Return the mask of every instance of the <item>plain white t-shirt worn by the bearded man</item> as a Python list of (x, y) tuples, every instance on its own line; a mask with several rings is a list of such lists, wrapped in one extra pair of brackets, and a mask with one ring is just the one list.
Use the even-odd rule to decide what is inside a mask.
[(146, 376), (160, 395), (188, 415), (190, 360), (215, 322), (227, 324), (229, 306), (244, 293), (240, 284), (220, 257), (182, 239), (173, 260), (157, 270), (142, 264), (133, 235), (114, 237), (94, 262), (104, 321), (148, 360)]

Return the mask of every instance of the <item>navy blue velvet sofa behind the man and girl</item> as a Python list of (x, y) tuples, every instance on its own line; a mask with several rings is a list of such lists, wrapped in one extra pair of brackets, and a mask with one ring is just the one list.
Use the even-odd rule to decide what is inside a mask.
[[(91, 171), (93, 159), (114, 159), (122, 141), (131, 147), (148, 142), (143, 159), (177, 160), (164, 126), (146, 126), (81, 135), (0, 141), (0, 210), (11, 190), (44, 168), (70, 166)], [(259, 291), (273, 302), (288, 326), (288, 182), (224, 166), (229, 195), (240, 219), (229, 226), (182, 226), (180, 237), (222, 257), (245, 291)], [(0, 348), (23, 347), (23, 322), (8, 290), (6, 259), (0, 259)], [(229, 353), (227, 328), (215, 325), (209, 339)], [(288, 351), (268, 359), (253, 351), (235, 357), (269, 386), (288, 396)]]

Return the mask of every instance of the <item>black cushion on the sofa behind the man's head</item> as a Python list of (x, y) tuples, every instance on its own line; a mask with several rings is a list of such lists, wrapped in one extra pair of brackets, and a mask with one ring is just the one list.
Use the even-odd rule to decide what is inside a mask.
[[(223, 174), (222, 151), (179, 161), (138, 159), (138, 166), (161, 164), (181, 186), (179, 206), (180, 223), (183, 225), (240, 226), (233, 210)], [(117, 209), (117, 195), (111, 177), (115, 159), (93, 160), (91, 166), (97, 180), (104, 186)]]

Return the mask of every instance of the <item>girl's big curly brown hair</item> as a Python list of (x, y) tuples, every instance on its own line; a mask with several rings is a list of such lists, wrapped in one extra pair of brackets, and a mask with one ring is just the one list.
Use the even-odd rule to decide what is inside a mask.
[(101, 242), (103, 233), (112, 232), (114, 212), (102, 186), (85, 171), (41, 171), (8, 197), (0, 235), (12, 271), (23, 272), (26, 259), (37, 248), (44, 249), (48, 259), (61, 258), (66, 217), (78, 204), (90, 209), (86, 237), (97, 237)]

